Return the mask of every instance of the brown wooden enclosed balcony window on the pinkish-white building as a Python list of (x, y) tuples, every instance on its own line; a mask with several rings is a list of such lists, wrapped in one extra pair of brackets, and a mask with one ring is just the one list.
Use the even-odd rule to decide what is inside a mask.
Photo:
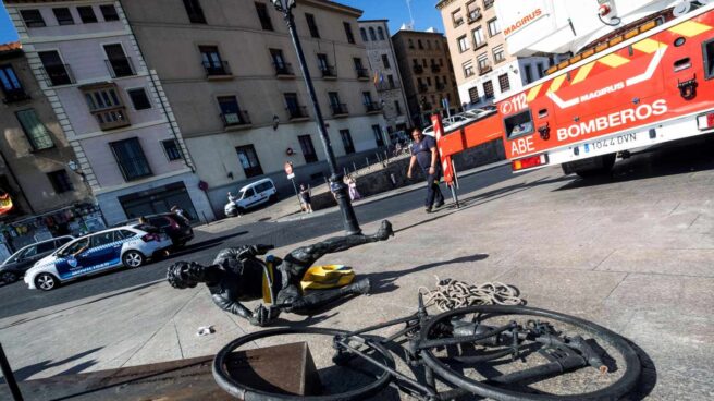
[(116, 85), (98, 84), (85, 88), (84, 98), (89, 111), (97, 119), (101, 130), (113, 130), (130, 125), (122, 99), (116, 93)]

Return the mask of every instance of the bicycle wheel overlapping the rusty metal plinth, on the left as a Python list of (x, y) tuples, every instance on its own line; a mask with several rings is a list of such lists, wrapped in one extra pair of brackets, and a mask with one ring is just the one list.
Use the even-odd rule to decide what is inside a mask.
[[(377, 377), (371, 378), (366, 385), (357, 389), (343, 391), (338, 393), (332, 393), (325, 396), (297, 396), (297, 394), (268, 392), (258, 388), (253, 388), (247, 385), (241, 384), (238, 380), (231, 377), (226, 368), (226, 359), (229, 354), (237, 350), (241, 345), (247, 344), (251, 341), (266, 339), (269, 337), (288, 336), (288, 335), (317, 335), (317, 336), (331, 336), (334, 338), (336, 336), (343, 336), (345, 333), (347, 333), (347, 331), (327, 329), (327, 328), (305, 327), (305, 328), (269, 329), (269, 330), (258, 331), (239, 337), (227, 343), (216, 354), (216, 357), (213, 359), (213, 378), (216, 379), (216, 382), (219, 385), (219, 387), (221, 387), (223, 390), (229, 392), (231, 396), (245, 401), (274, 401), (274, 400), (349, 401), (349, 400), (365, 399), (366, 397), (379, 392), (386, 385), (389, 385), (390, 380), (392, 379), (392, 375), (386, 370), (381, 370), (381, 373)], [(360, 341), (362, 343), (366, 342), (364, 338), (358, 336), (353, 336), (350, 337), (350, 339)], [(392, 357), (392, 354), (384, 347), (374, 342), (369, 342), (369, 344), (367, 344), (367, 348), (377, 352), (380, 355), (382, 362), (386, 366), (392, 368), (394, 367), (394, 359)], [(355, 360), (358, 360), (358, 357), (356, 357)]]

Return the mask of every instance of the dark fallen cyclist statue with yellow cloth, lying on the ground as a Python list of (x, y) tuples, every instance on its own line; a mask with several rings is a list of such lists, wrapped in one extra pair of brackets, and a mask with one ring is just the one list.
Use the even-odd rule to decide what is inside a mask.
[[(369, 293), (369, 279), (361, 279), (342, 288), (307, 293), (301, 291), (300, 281), (308, 268), (323, 255), (384, 241), (390, 235), (394, 235), (392, 224), (383, 220), (374, 234), (330, 238), (298, 247), (282, 259), (269, 255), (264, 262), (257, 256), (264, 255), (273, 248), (272, 245), (229, 247), (221, 250), (209, 266), (195, 262), (177, 262), (171, 265), (167, 280), (177, 289), (194, 288), (204, 282), (211, 292), (213, 303), (220, 308), (244, 317), (255, 326), (266, 326), (278, 317), (280, 312), (306, 313), (343, 296)], [(241, 303), (264, 299), (266, 291), (270, 292), (272, 299), (270, 306), (261, 304), (251, 312)]]

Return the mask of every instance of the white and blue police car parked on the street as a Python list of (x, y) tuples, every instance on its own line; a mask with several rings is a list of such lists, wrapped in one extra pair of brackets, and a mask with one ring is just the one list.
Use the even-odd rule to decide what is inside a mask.
[(38, 260), (25, 274), (32, 290), (50, 291), (60, 282), (120, 266), (139, 267), (148, 257), (171, 247), (167, 234), (150, 227), (103, 230), (78, 238)]

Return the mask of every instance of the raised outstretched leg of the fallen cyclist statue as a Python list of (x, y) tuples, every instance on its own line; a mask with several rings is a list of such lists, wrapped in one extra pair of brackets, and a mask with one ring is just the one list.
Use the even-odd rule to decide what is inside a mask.
[(394, 235), (392, 223), (387, 220), (382, 220), (380, 229), (371, 235), (333, 236), (317, 244), (301, 246), (285, 256), (283, 264), (285, 264), (286, 270), (293, 276), (292, 278), (299, 281), (303, 275), (305, 275), (305, 271), (325, 254), (346, 251), (353, 246), (368, 244), (370, 242), (384, 241), (390, 235)]

